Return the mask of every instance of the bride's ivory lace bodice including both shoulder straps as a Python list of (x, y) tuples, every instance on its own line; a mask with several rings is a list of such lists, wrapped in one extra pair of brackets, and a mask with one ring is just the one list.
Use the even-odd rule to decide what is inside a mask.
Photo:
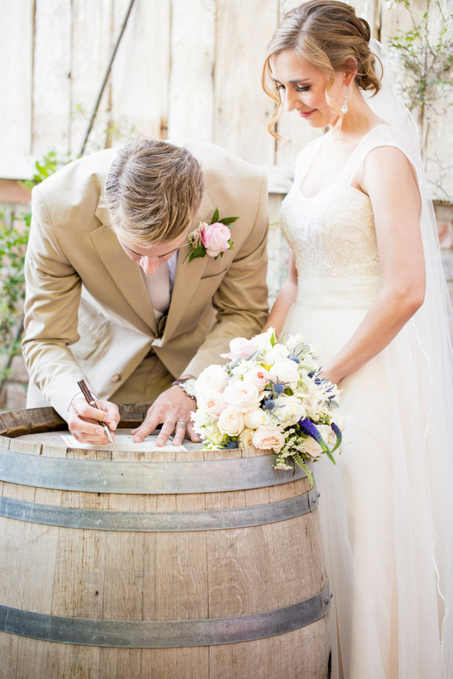
[[(330, 133), (328, 133), (330, 134)], [(296, 163), (295, 183), (281, 205), (281, 230), (296, 261), (300, 279), (330, 279), (376, 290), (382, 284), (378, 243), (369, 196), (352, 186), (370, 151), (391, 146), (412, 160), (403, 133), (378, 125), (360, 140), (338, 179), (311, 198), (300, 189), (323, 138), (311, 142)]]

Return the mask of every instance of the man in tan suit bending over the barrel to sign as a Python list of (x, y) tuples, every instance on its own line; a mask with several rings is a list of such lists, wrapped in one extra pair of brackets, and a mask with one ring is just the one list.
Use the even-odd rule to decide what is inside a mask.
[[(185, 434), (198, 440), (194, 378), (266, 320), (266, 205), (254, 167), (194, 140), (99, 151), (35, 187), (27, 406), (51, 404), (77, 440), (100, 445), (97, 420), (114, 430), (115, 404), (152, 403), (134, 440), (157, 425), (159, 445), (172, 433), (175, 445)], [(219, 220), (239, 217), (226, 234), (206, 230), (216, 208)], [(207, 248), (198, 238), (195, 252), (203, 229)], [(97, 407), (78, 392), (81, 379)]]

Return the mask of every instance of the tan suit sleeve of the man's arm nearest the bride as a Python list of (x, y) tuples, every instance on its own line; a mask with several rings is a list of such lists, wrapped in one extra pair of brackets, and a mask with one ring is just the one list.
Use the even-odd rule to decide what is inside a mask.
[(233, 337), (252, 337), (266, 323), (267, 201), (267, 181), (262, 178), (255, 223), (212, 299), (216, 324), (183, 374), (197, 376), (208, 365), (223, 362), (220, 354), (228, 351)]

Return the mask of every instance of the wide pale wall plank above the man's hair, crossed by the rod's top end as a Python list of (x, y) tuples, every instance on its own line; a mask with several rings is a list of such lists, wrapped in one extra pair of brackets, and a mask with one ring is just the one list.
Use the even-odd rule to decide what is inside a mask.
[[(115, 1), (113, 40), (128, 6), (129, 0)], [(170, 7), (169, 0), (136, 2), (118, 48), (112, 68), (111, 120), (123, 141), (136, 133), (167, 137)]]

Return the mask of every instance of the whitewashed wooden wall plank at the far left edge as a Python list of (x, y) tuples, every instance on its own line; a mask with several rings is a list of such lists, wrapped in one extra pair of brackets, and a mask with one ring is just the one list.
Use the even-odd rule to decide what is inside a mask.
[(31, 153), (33, 0), (0, 1), (0, 176), (22, 176)]

